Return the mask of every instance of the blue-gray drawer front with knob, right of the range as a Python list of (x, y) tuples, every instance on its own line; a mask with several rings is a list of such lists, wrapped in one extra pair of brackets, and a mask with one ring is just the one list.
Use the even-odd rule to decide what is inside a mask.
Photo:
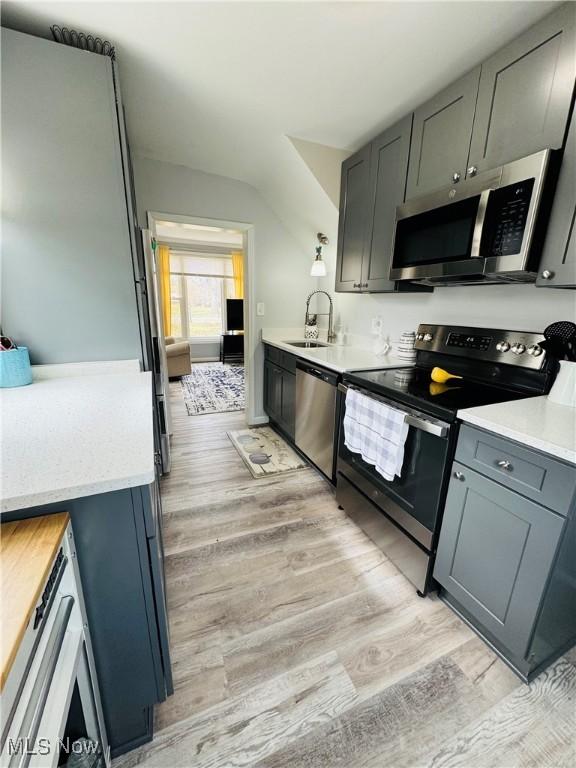
[(491, 432), (462, 426), (456, 459), (566, 516), (576, 489), (574, 467)]

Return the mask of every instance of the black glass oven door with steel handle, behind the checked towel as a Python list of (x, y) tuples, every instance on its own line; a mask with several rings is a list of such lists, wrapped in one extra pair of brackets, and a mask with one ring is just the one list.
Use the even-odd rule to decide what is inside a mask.
[[(340, 384), (339, 389), (345, 393), (347, 388)], [(346, 446), (344, 402), (338, 439), (338, 472), (420, 545), (431, 550), (441, 510), (453, 427), (392, 400), (359, 391), (406, 413), (409, 430), (402, 471), (393, 481), (386, 480), (359, 453)]]

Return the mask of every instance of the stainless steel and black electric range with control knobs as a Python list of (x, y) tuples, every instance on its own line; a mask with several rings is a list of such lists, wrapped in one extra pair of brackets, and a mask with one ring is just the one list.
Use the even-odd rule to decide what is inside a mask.
[[(338, 437), (338, 503), (416, 586), (434, 589), (432, 568), (458, 433), (457, 412), (549, 391), (554, 363), (539, 333), (421, 325), (413, 368), (345, 374)], [(462, 376), (431, 380), (440, 367)], [(406, 413), (400, 476), (384, 479), (345, 444), (346, 392), (355, 389)]]

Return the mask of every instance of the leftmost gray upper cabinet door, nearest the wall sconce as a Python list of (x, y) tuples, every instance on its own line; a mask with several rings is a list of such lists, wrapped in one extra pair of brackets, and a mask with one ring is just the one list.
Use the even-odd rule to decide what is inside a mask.
[(342, 163), (336, 290), (360, 291), (370, 190), (370, 145)]

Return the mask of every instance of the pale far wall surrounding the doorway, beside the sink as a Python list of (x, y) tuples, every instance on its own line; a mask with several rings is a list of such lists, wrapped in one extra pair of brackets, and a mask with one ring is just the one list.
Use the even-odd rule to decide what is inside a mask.
[[(314, 289), (310, 277), (312, 255), (294, 240), (260, 193), (249, 184), (224, 176), (195, 171), (182, 165), (134, 158), (138, 218), (147, 226), (147, 211), (235, 221), (254, 226), (254, 303), (264, 302), (266, 314), (255, 318), (254, 335), (263, 327), (303, 324), (307, 294)], [(313, 248), (311, 248), (313, 254)], [(263, 350), (254, 352), (256, 417), (262, 409)]]

